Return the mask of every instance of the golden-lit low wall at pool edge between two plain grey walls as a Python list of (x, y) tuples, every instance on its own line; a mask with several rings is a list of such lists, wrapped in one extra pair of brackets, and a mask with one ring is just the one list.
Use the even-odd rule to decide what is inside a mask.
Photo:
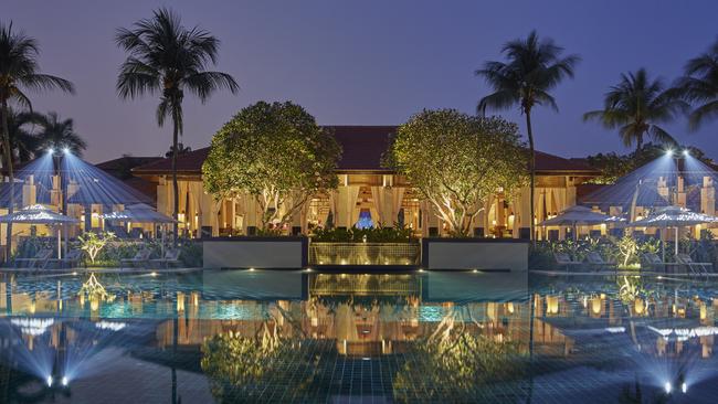
[(419, 243), (309, 243), (309, 265), (416, 266)]

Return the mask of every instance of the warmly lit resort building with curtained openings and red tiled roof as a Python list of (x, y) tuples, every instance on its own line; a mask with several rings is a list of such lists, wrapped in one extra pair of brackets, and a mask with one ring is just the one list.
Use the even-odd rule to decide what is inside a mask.
[[(306, 234), (314, 226), (331, 221), (337, 227), (397, 222), (414, 230), (420, 236), (440, 236), (445, 226), (432, 214), (429, 202), (397, 172), (382, 167), (395, 126), (331, 126), (342, 148), (338, 162), (338, 189), (315, 195), (295, 215), (287, 233)], [(215, 201), (204, 191), (202, 163), (210, 149), (203, 148), (179, 156), (179, 220), (181, 231), (191, 236), (252, 235), (258, 225), (256, 202), (250, 195)], [(536, 223), (556, 215), (577, 203), (577, 189), (599, 173), (581, 160), (566, 159), (537, 151), (536, 153)], [(136, 167), (131, 172), (157, 184), (157, 210), (172, 213), (172, 181), (170, 159), (159, 159)], [(473, 223), (474, 235), (485, 237), (528, 238), (529, 189), (516, 195), (497, 193), (487, 201)], [(603, 230), (605, 231), (605, 230)], [(563, 230), (548, 228), (540, 237), (563, 237)]]

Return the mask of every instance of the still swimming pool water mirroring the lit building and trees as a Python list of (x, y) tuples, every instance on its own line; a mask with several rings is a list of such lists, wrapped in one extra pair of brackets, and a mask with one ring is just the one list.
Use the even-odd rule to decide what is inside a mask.
[(718, 285), (0, 274), (0, 403), (712, 403)]

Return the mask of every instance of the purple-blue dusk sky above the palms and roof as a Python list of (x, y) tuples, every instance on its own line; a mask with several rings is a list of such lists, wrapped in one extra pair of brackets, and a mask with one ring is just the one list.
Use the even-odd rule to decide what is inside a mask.
[[(155, 121), (157, 98), (123, 102), (115, 93), (123, 52), (115, 29), (162, 4), (222, 41), (218, 70), (242, 86), (201, 105), (184, 104), (184, 143), (209, 145), (240, 108), (260, 99), (291, 99), (319, 124), (401, 124), (421, 108), (473, 113), (487, 93), (473, 72), (500, 57), (507, 41), (536, 28), (582, 62), (577, 77), (555, 91), (560, 113), (534, 117), (537, 148), (567, 157), (623, 151), (615, 132), (583, 124), (622, 72), (641, 66), (673, 79), (716, 38), (718, 2), (708, 1), (184, 1), (40, 2), (6, 0), (0, 20), (34, 36), (43, 72), (73, 81), (75, 96), (34, 94), (35, 109), (75, 119), (94, 162), (123, 153), (158, 156), (170, 127)], [(524, 120), (516, 110), (503, 113)], [(687, 145), (718, 158), (718, 121), (689, 134), (685, 119), (668, 126)]]

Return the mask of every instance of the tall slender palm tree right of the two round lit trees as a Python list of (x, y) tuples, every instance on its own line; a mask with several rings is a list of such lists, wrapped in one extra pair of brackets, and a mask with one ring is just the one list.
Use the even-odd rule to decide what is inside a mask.
[(549, 94), (566, 77), (573, 77), (573, 68), (579, 63), (578, 55), (563, 57), (563, 49), (553, 40), (539, 40), (536, 31), (531, 31), (525, 40), (514, 40), (504, 45), (501, 53), (506, 62), (486, 62), (483, 68), (475, 72), (483, 77), (494, 93), (478, 102), (478, 111), (486, 108), (508, 109), (518, 105), (526, 116), (526, 131), (530, 149), (530, 232), (534, 234), (534, 194), (536, 188), (536, 152), (534, 149), (534, 129), (531, 111), (537, 105), (549, 106), (558, 111), (553, 96)]

